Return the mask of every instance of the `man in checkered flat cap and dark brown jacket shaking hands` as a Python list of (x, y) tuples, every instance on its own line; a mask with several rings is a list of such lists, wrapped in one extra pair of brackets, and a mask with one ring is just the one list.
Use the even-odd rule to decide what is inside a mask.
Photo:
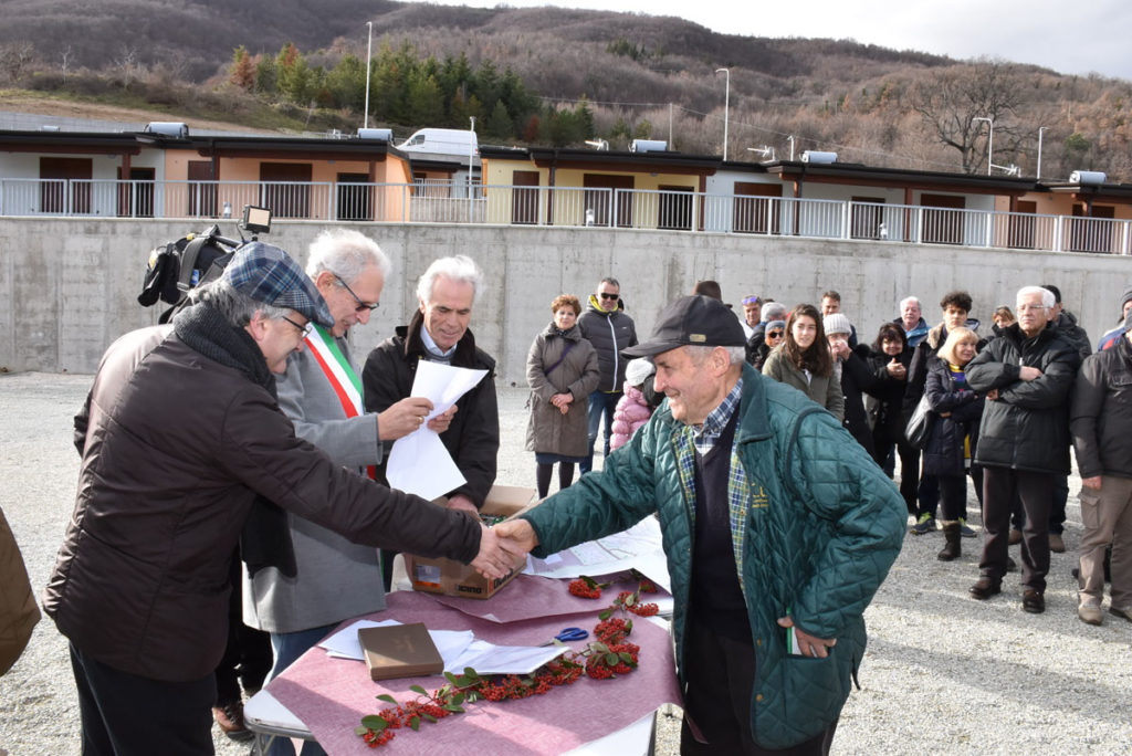
[(509, 570), (478, 521), (295, 437), (274, 373), (310, 323), (335, 324), (315, 283), (257, 242), (171, 329), (126, 334), (103, 356), (75, 419), (78, 496), (43, 602), (70, 641), (84, 754), (213, 753), (232, 552), (246, 522), (285, 538), (277, 507), (369, 547)]

